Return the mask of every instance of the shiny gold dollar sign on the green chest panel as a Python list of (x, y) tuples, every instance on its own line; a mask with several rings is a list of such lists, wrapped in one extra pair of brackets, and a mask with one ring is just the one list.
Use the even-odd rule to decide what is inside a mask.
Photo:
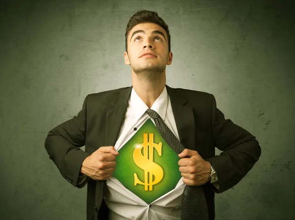
[[(144, 154), (142, 154), (144, 148)], [(145, 182), (139, 180), (134, 173), (134, 186), (141, 184), (145, 186), (145, 191), (152, 191), (152, 186), (159, 183), (164, 176), (163, 168), (153, 162), (153, 149), (156, 149), (158, 155), (162, 155), (162, 142), (156, 144), (153, 142), (153, 134), (144, 134), (144, 142), (138, 145), (133, 151), (134, 163), (144, 170)], [(153, 176), (155, 177), (153, 180)]]

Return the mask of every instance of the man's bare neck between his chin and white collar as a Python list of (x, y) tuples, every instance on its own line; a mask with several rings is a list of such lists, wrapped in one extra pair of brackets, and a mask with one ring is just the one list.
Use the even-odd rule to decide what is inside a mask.
[(166, 84), (166, 74), (164, 73), (156, 80), (143, 80), (132, 73), (132, 86), (136, 94), (151, 108), (156, 99), (161, 95)]

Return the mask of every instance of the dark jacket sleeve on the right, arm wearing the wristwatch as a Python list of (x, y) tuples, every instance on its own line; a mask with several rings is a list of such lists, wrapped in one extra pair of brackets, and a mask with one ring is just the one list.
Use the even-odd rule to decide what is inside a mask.
[(254, 166), (261, 156), (261, 147), (256, 138), (245, 129), (225, 119), (216, 108), (212, 96), (212, 132), (214, 145), (223, 151), (220, 155), (206, 159), (215, 169), (219, 189), (211, 186), (216, 193), (235, 186)]

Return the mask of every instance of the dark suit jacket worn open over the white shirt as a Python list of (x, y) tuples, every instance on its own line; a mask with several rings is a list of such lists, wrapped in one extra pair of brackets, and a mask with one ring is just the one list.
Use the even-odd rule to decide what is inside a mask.
[[(177, 132), (185, 148), (196, 150), (214, 167), (219, 183), (202, 185), (210, 220), (215, 219), (214, 194), (235, 186), (261, 155), (256, 138), (225, 119), (216, 108), (212, 94), (166, 85)], [(90, 154), (101, 146), (115, 146), (126, 113), (132, 86), (87, 95), (77, 116), (52, 129), (45, 140), (49, 157), (62, 177), (74, 187), (87, 186), (87, 220), (107, 219), (103, 201), (106, 181), (89, 177), (77, 185), (80, 168)], [(85, 145), (85, 152), (80, 147)], [(215, 147), (223, 151), (215, 156)]]

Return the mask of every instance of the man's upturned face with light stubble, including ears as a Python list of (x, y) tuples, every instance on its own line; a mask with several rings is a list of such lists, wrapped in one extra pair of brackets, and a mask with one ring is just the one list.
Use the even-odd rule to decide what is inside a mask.
[[(138, 24), (133, 27), (127, 38), (125, 64), (131, 66), (136, 74), (163, 73), (166, 65), (172, 63), (172, 52), (168, 54), (168, 36), (166, 31), (153, 23)], [(154, 56), (142, 56), (151, 53)]]

